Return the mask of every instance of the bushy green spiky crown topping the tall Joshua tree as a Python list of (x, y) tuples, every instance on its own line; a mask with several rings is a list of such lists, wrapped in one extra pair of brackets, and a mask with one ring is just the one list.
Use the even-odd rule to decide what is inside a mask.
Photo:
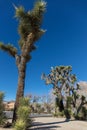
[(34, 4), (31, 11), (26, 12), (23, 7), (15, 7), (16, 17), (19, 19), (19, 34), (21, 36), (19, 45), (22, 48), (30, 33), (34, 34), (33, 42), (38, 40), (43, 34), (44, 30), (40, 29), (43, 19), (43, 14), (46, 10), (46, 2), (38, 0)]

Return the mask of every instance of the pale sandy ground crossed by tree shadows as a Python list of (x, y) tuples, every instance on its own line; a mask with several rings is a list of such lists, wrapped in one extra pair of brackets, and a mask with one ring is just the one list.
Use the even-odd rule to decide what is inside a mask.
[[(0, 130), (13, 130), (3, 129)], [(33, 127), (30, 130), (87, 130), (86, 121), (67, 121), (64, 118), (39, 117), (34, 118)]]

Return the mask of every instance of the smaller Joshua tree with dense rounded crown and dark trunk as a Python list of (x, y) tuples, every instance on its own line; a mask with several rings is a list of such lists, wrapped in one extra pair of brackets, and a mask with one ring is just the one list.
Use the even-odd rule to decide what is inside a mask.
[[(59, 111), (64, 110), (65, 99), (66, 107), (69, 106), (67, 105), (67, 97), (72, 96), (72, 91), (74, 93), (74, 83), (76, 82), (76, 76), (71, 74), (71, 71), (71, 66), (56, 66), (51, 68), (49, 75), (42, 75), (42, 79), (46, 81), (47, 85), (53, 85), (54, 94), (56, 95), (56, 105), (59, 107)], [(74, 102), (74, 98), (72, 98), (72, 102)]]

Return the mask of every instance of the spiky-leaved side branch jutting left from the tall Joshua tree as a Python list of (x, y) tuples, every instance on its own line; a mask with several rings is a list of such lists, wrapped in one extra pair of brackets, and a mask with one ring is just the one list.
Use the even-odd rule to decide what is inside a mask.
[(15, 57), (15, 55), (17, 54), (17, 49), (11, 44), (5, 45), (0, 42), (0, 49), (9, 53), (12, 57)]

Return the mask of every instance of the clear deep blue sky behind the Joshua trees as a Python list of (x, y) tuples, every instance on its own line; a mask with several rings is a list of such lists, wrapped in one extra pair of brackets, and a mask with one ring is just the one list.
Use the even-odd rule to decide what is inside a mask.
[[(0, 41), (18, 47), (18, 21), (15, 5), (32, 9), (35, 0), (0, 0)], [(45, 35), (27, 64), (25, 94), (48, 94), (51, 87), (41, 80), (51, 66), (71, 65), (78, 81), (87, 81), (87, 0), (47, 0), (44, 16)], [(15, 99), (18, 72), (15, 59), (0, 51), (0, 91), (5, 99)]]

